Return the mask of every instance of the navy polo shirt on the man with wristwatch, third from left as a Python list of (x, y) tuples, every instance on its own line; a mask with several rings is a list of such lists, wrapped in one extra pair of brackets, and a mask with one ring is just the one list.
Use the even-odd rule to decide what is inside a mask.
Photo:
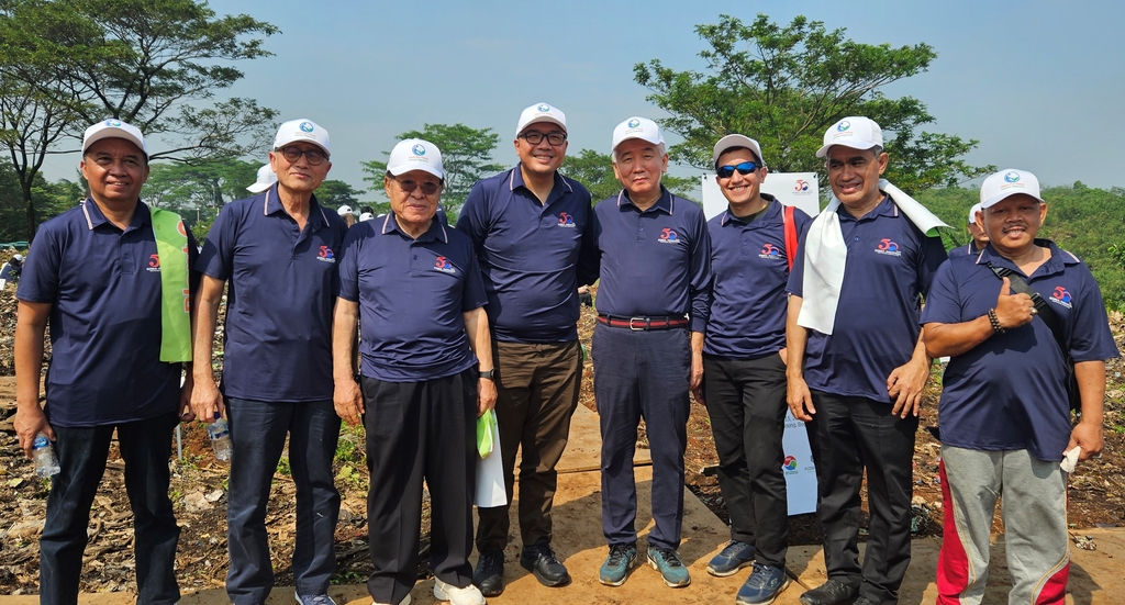
[(354, 225), (340, 258), (340, 298), (359, 302), (363, 376), (418, 382), (477, 363), (464, 314), (488, 298), (472, 242), (439, 220), (417, 240), (393, 214)]

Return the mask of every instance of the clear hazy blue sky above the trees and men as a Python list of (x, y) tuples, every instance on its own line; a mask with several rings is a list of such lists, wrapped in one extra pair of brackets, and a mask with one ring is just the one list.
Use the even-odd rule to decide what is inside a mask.
[[(720, 13), (750, 21), (757, 12), (781, 25), (806, 15), (862, 43), (933, 46), (938, 57), (928, 72), (884, 90), (925, 102), (936, 118), (927, 129), (980, 139), (971, 163), (1030, 170), (1046, 184), (1125, 186), (1118, 170), (1125, 141), (1119, 0), (210, 6), (281, 29), (266, 42), (274, 56), (238, 65), (245, 79), (220, 96), (252, 97), (281, 119), (324, 126), (332, 135), (330, 178), (357, 188), (366, 186), (361, 161), (384, 159), (396, 135), (425, 123), (490, 127), (500, 134), (496, 161), (513, 164), (515, 121), (540, 101), (566, 112), (572, 154), (586, 147), (608, 153), (619, 121), (664, 115), (633, 82), (636, 63), (659, 58), (677, 70), (702, 70), (704, 43), (694, 26), (717, 22)], [(71, 178), (72, 163), (76, 159), (48, 159), (46, 174)]]

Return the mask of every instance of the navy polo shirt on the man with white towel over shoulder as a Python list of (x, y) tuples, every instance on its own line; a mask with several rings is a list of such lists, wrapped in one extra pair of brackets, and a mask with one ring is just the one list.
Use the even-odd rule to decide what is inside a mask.
[[(836, 213), (847, 269), (832, 335), (809, 333), (804, 380), (819, 391), (890, 403), (886, 377), (914, 354), (921, 296), (945, 262), (945, 246), (940, 237), (926, 237), (888, 197), (861, 219), (844, 206)], [(803, 279), (801, 245), (788, 290), (803, 296)]]

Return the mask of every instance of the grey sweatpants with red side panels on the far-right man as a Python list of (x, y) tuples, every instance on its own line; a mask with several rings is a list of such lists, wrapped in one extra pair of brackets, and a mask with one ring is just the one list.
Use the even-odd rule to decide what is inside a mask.
[(937, 560), (938, 605), (978, 605), (988, 579), (989, 534), (1004, 495), (1009, 604), (1062, 604), (1070, 574), (1066, 475), (1027, 450), (942, 448), (945, 538)]

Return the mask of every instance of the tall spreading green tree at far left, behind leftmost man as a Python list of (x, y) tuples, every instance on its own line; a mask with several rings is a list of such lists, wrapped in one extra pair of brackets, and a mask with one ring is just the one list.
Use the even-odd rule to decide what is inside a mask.
[[(269, 56), (259, 36), (274, 33), (246, 15), (216, 17), (196, 0), (0, 2), (0, 93), (6, 101), (33, 97), (40, 109), (3, 124), (16, 132), (2, 142), (24, 184), (29, 236), (36, 220), (27, 183), (44, 154), (73, 151), (57, 148), (61, 134), (80, 137), (114, 117), (168, 144), (152, 159), (205, 162), (261, 148), (276, 112), (252, 99), (214, 98), (243, 76), (227, 63)], [(17, 157), (18, 141), (37, 142), (20, 147), (32, 156)]]

